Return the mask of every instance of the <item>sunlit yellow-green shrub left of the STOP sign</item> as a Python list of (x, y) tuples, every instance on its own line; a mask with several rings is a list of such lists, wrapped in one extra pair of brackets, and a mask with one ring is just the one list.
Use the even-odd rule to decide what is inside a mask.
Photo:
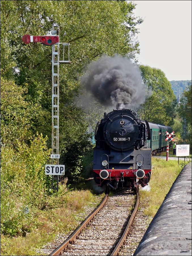
[[(48, 194), (50, 183), (45, 177), (45, 163), (50, 154), (47, 138), (42, 134), (19, 141), (17, 148), (1, 148), (1, 232), (14, 236), (27, 232), (24, 226), (32, 217), (26, 207), (39, 204)], [(49, 184), (48, 184), (49, 183)]]

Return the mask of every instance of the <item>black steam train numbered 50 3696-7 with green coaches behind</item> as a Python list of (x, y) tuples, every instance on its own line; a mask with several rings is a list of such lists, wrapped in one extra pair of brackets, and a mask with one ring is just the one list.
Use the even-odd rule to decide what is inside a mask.
[[(151, 154), (166, 148), (166, 131), (171, 127), (142, 121), (125, 108), (104, 113), (95, 130), (94, 181), (98, 186), (117, 189), (118, 184), (139, 190), (151, 178)], [(171, 144), (172, 142), (170, 142)]]

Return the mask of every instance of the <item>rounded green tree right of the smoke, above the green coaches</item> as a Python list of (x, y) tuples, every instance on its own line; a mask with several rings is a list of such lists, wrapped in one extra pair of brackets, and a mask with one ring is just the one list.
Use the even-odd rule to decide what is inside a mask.
[(173, 125), (176, 97), (163, 71), (140, 65), (143, 83), (147, 85), (147, 99), (138, 110), (141, 119), (153, 123)]

